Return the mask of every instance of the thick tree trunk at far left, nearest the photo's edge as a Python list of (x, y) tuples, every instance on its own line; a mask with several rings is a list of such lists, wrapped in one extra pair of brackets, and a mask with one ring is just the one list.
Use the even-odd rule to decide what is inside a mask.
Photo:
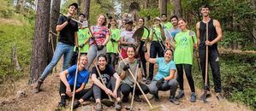
[(50, 28), (51, 0), (39, 0), (35, 20), (32, 59), (30, 64), (30, 79), (28, 84), (39, 79), (47, 65), (48, 33)]

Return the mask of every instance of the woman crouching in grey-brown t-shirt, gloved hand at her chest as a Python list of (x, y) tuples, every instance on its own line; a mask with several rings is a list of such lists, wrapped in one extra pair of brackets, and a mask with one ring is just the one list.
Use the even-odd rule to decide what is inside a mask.
[[(128, 46), (127, 49), (127, 55), (128, 58), (124, 59), (124, 61), (120, 61), (117, 69), (117, 73), (120, 74), (120, 78), (122, 79), (122, 85), (121, 85), (121, 92), (122, 92), (122, 102), (128, 102), (128, 96), (129, 93), (133, 91), (134, 89), (134, 78), (131, 74), (134, 74), (134, 77), (138, 76), (139, 79), (142, 78), (142, 75), (140, 73), (139, 64), (140, 60), (136, 59), (135, 56), (135, 48), (132, 45)], [(127, 64), (125, 64), (127, 63)], [(131, 70), (132, 73), (128, 72), (128, 69)], [(138, 74), (137, 74), (138, 73)], [(145, 94), (148, 93), (149, 89), (146, 85), (139, 83), (142, 91), (144, 91)], [(142, 93), (140, 92), (140, 89), (138, 86), (135, 86), (135, 92), (134, 92), (134, 100), (136, 102), (140, 102), (140, 95)]]

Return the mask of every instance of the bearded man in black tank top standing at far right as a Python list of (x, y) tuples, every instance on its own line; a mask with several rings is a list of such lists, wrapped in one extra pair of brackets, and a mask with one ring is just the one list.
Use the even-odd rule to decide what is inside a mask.
[[(219, 53), (217, 50), (217, 42), (220, 41), (223, 38), (223, 32), (221, 25), (218, 20), (213, 20), (210, 17), (210, 8), (207, 4), (201, 6), (200, 8), (201, 14), (203, 15), (203, 20), (199, 21), (196, 24), (196, 34), (198, 38), (199, 43), (199, 59), (200, 64), (202, 66), (202, 76), (205, 84), (205, 54), (206, 54), (206, 46), (209, 47), (208, 50), (208, 61), (211, 65), (211, 72), (213, 77), (213, 83), (214, 83), (214, 91), (217, 93), (217, 98), (221, 99), (223, 96), (221, 96), (220, 92), (222, 91), (221, 88), (221, 75), (220, 75), (220, 68), (219, 68)], [(208, 24), (208, 27), (206, 27), (206, 24)], [(208, 28), (208, 37), (209, 39), (206, 39), (206, 28)], [(208, 73), (207, 73), (208, 74)], [(209, 76), (207, 76), (207, 83), (208, 86), (210, 86), (209, 82)], [(205, 90), (208, 91), (208, 94), (210, 94), (210, 88), (207, 87)]]

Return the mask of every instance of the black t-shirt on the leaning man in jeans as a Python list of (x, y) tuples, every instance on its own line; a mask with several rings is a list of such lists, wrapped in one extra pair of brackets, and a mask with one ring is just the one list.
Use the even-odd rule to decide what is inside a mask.
[[(57, 25), (62, 25), (67, 17), (61, 15), (57, 21)], [(68, 25), (60, 32), (59, 42), (74, 46), (74, 32), (78, 32), (78, 24), (74, 20), (70, 20)]]

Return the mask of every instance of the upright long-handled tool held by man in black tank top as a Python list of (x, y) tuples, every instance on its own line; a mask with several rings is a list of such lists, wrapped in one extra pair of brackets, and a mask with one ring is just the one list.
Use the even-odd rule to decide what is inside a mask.
[[(206, 23), (206, 41), (208, 40), (208, 23)], [(204, 102), (206, 101), (206, 96), (207, 96), (207, 89), (209, 88), (208, 81), (208, 45), (205, 44), (206, 47), (206, 54), (205, 54), (205, 88), (204, 88), (204, 93), (202, 96), (200, 96), (200, 99), (203, 100)]]

